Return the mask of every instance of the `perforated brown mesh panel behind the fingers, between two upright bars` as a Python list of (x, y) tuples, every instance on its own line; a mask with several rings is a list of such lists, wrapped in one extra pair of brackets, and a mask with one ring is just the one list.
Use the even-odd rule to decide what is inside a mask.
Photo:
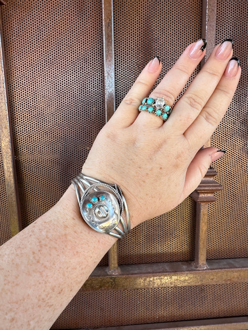
[[(201, 38), (201, 10), (202, 1), (114, 1), (117, 105), (150, 59), (158, 55), (162, 60), (160, 80), (184, 48)], [(172, 212), (135, 228), (119, 244), (120, 264), (192, 260), (194, 212), (187, 198)]]

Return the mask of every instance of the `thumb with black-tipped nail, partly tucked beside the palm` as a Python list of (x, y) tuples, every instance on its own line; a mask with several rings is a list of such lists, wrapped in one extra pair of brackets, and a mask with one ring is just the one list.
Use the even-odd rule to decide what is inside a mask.
[(225, 152), (225, 150), (220, 150), (215, 147), (208, 147), (200, 149), (196, 153), (186, 172), (185, 187), (183, 190), (185, 198), (199, 186), (210, 164), (222, 157)]

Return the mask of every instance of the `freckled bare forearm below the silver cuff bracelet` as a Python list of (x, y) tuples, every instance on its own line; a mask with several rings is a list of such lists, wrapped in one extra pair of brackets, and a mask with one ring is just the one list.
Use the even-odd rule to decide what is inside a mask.
[(84, 223), (70, 186), (0, 247), (2, 329), (49, 329), (115, 241)]

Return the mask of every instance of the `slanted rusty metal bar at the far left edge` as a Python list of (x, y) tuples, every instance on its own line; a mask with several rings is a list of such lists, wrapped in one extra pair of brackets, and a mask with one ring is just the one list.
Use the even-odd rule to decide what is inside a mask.
[(2, 23), (0, 18), (0, 143), (5, 187), (8, 203), (8, 214), (11, 235), (16, 235), (21, 229), (19, 200), (15, 175), (14, 152), (11, 135), (10, 115), (8, 111), (8, 93), (5, 82)]

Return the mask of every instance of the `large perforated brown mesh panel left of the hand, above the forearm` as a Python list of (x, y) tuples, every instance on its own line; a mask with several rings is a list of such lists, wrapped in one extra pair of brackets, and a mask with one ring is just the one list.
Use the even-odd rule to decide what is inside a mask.
[(10, 0), (1, 15), (25, 227), (58, 201), (105, 123), (101, 3)]

